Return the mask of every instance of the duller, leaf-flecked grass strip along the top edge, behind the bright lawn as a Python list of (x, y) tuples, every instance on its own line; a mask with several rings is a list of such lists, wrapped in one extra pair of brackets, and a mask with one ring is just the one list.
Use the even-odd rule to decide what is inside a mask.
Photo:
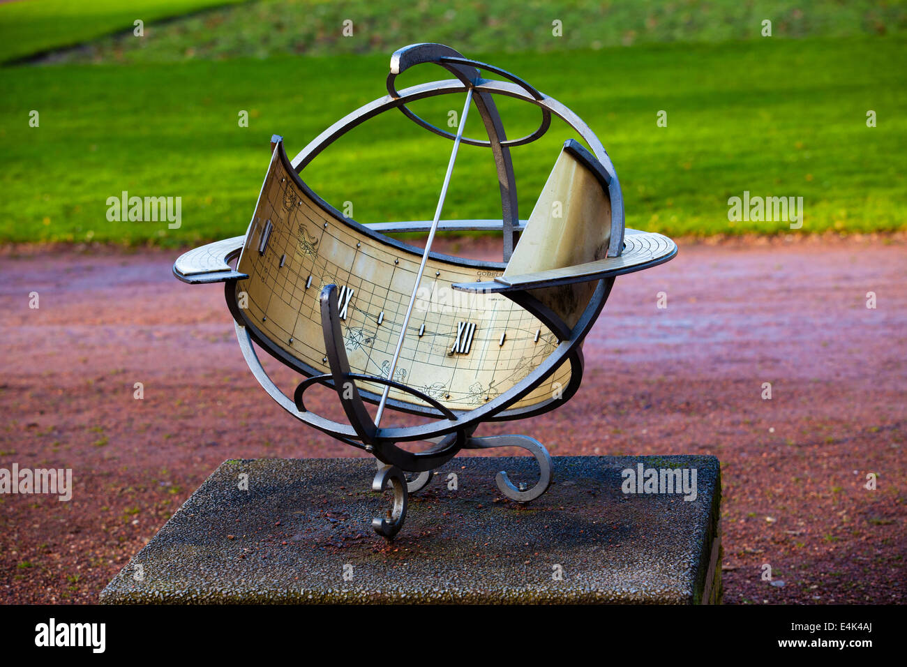
[[(903, 0), (268, 0), (232, 5), (99, 40), (64, 62), (148, 63), (187, 58), (277, 54), (390, 54), (403, 44), (455, 44), (464, 54), (489, 50), (557, 52), (668, 42), (760, 39), (762, 22), (778, 37), (898, 34)], [(345, 20), (354, 34), (344, 36)], [(552, 23), (561, 22), (555, 36)]]

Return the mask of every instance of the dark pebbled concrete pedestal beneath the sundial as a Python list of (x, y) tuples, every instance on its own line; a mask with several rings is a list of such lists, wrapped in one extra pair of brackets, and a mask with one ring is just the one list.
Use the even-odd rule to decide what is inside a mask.
[[(226, 461), (104, 588), (101, 602), (720, 601), (714, 456), (553, 461), (548, 493), (518, 505), (499, 493), (494, 476), (506, 470), (532, 485), (531, 456), (454, 458), (410, 496), (393, 542), (370, 526), (391, 506), (390, 492), (370, 490), (374, 459)], [(637, 493), (624, 493), (624, 471), (636, 477), (639, 464)], [(696, 499), (684, 500), (682, 489), (667, 493), (667, 485), (645, 493), (648, 468), (688, 469), (688, 483), (695, 470)]]

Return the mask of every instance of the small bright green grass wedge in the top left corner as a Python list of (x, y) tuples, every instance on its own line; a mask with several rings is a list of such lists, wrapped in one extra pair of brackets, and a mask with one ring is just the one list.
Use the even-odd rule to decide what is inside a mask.
[(0, 63), (239, 0), (20, 0), (0, 5)]

